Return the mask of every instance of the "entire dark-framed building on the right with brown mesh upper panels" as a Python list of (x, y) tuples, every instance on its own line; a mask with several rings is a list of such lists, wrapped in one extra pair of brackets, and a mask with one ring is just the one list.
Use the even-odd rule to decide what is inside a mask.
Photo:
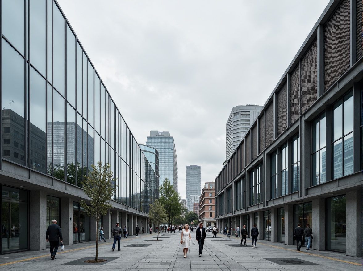
[(362, 1), (330, 1), (215, 179), (218, 228), (363, 256), (362, 43)]

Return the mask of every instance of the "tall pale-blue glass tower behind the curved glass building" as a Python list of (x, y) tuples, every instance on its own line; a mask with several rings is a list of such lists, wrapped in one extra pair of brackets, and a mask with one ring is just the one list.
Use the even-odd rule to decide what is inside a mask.
[(165, 178), (168, 178), (178, 193), (178, 160), (174, 137), (171, 137), (169, 132), (150, 131), (146, 145), (154, 147), (159, 152), (159, 186)]

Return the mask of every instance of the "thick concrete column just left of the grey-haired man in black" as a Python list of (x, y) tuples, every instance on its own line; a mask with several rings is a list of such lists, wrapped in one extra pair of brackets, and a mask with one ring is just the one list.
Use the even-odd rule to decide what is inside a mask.
[[(30, 250), (46, 249), (45, 233), (48, 227), (46, 225), (46, 192), (30, 191), (29, 209)], [(50, 223), (52, 223), (53, 219), (50, 218)], [(28, 242), (28, 240), (19, 238), (19, 242)]]

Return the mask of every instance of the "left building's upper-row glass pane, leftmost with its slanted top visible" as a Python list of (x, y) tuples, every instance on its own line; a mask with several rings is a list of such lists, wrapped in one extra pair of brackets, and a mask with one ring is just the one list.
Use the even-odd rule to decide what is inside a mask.
[(64, 96), (64, 17), (54, 5), (53, 8), (53, 86)]

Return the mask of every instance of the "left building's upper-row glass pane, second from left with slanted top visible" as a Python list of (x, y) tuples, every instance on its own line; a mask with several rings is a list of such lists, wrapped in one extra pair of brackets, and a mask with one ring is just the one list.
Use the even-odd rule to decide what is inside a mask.
[(67, 100), (76, 107), (76, 37), (67, 25)]

